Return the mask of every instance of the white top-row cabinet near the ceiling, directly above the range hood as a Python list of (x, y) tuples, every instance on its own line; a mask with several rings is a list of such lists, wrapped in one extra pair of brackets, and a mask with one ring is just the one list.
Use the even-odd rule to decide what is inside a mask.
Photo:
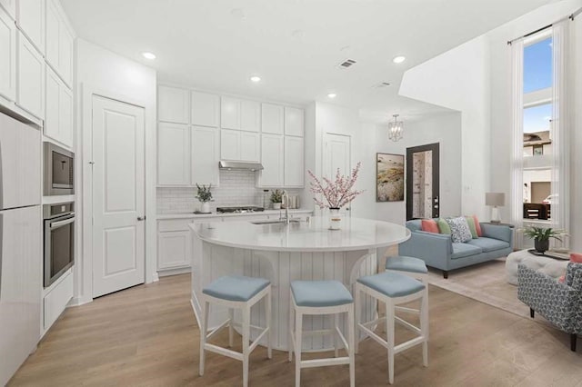
[(223, 96), (220, 101), (220, 127), (258, 132), (261, 127), (261, 104)]

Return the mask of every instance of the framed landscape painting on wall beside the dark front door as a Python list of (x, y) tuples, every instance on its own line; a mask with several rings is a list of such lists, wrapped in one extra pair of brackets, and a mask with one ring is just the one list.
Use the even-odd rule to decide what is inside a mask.
[(404, 201), (404, 154), (376, 154), (376, 202)]

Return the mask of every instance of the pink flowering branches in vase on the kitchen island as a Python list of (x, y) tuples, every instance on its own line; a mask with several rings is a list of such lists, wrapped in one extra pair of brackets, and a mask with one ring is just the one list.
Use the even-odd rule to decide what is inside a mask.
[(321, 180), (317, 179), (315, 174), (311, 171), (307, 173), (313, 179), (310, 182), (311, 192), (323, 195), (322, 200), (318, 197), (314, 197), (313, 200), (319, 208), (329, 208), (329, 229), (339, 230), (341, 226), (341, 214), (339, 210), (353, 201), (356, 196), (364, 191), (357, 191), (354, 189), (354, 184), (356, 184), (357, 174), (360, 171), (360, 165), (362, 163), (357, 163), (356, 168), (352, 171), (350, 176), (344, 176), (339, 173), (339, 168), (336, 172), (336, 180), (331, 180), (323, 177)]

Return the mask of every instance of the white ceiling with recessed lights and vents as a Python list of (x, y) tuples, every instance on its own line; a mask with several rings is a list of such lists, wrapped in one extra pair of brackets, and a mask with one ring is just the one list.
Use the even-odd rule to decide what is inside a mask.
[[(156, 68), (160, 82), (294, 104), (333, 101), (376, 122), (443, 109), (398, 97), (407, 68), (552, 0), (61, 0), (77, 35)], [(153, 62), (141, 56), (157, 55)], [(406, 55), (395, 65), (392, 58)], [(350, 69), (336, 65), (346, 58)], [(262, 81), (253, 84), (251, 75)], [(437, 74), (436, 74), (437, 76)], [(374, 85), (391, 85), (376, 89)]]

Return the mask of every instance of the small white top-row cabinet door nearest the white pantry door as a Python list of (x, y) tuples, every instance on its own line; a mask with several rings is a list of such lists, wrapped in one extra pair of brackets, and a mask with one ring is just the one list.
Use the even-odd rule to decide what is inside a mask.
[(157, 119), (167, 123), (188, 124), (190, 92), (170, 86), (157, 87)]

